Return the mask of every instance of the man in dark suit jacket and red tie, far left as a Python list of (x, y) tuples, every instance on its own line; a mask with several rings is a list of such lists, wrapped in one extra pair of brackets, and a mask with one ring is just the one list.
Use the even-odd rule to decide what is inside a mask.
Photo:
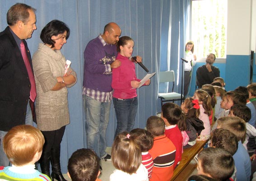
[(14, 4), (7, 12), (9, 26), (0, 32), (0, 166), (9, 165), (2, 144), (5, 134), (14, 126), (33, 124), (36, 88), (25, 40), (37, 29), (35, 10)]

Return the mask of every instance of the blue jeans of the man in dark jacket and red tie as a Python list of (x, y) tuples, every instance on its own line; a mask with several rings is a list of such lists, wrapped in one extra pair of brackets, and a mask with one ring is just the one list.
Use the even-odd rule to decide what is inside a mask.
[[(33, 126), (33, 118), (32, 118), (32, 111), (28, 102), (27, 106), (27, 114), (26, 114), (26, 121), (25, 124), (29, 124)], [(7, 132), (0, 131), (0, 166), (7, 167), (10, 165), (9, 159), (7, 158), (4, 148), (3, 148), (3, 140)]]

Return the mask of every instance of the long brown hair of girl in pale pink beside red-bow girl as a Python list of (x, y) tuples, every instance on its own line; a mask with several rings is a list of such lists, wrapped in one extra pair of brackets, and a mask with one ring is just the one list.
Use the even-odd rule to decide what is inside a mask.
[(199, 98), (198, 101), (203, 102), (202, 105), (205, 109), (205, 114), (210, 116), (211, 110), (212, 110), (212, 105), (211, 105), (212, 98), (209, 96), (209, 94), (205, 90), (202, 90), (202, 89), (197, 89), (195, 91), (195, 93), (197, 94), (197, 96)]

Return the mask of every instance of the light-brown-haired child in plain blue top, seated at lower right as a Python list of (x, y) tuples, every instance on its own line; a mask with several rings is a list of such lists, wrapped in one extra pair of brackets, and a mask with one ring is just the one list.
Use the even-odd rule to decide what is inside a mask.
[(238, 148), (237, 152), (233, 155), (233, 159), (237, 168), (237, 181), (250, 181), (251, 160), (241, 142), (246, 134), (245, 121), (237, 116), (221, 117), (217, 119), (217, 128), (227, 129), (236, 135)]

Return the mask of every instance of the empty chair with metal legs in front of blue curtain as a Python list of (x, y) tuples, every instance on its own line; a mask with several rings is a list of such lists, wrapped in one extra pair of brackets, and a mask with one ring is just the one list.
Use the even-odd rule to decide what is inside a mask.
[(173, 92), (175, 77), (174, 71), (162, 71), (159, 74), (159, 83), (162, 82), (172, 82), (172, 92), (171, 93), (158, 93), (158, 97), (161, 99), (161, 106), (163, 106), (163, 102), (169, 101), (182, 101), (183, 95), (180, 93)]

